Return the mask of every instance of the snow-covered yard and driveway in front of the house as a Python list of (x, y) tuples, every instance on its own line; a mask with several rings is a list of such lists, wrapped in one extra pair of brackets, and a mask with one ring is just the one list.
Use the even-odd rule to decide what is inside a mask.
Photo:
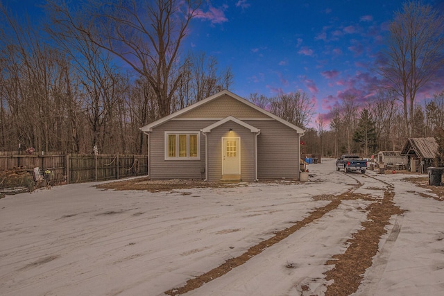
[[(0, 200), (0, 295), (163, 295), (239, 256), (328, 204), (316, 195), (382, 196), (406, 210), (392, 218), (356, 295), (442, 295), (444, 203), (406, 175), (336, 172), (309, 165), (309, 182), (243, 184), (149, 193), (92, 183)], [(411, 177), (412, 175), (409, 175)], [(427, 193), (432, 195), (432, 193)], [(368, 201), (344, 200), (322, 218), (186, 295), (323, 295), (325, 265), (361, 229)], [(289, 268), (291, 266), (291, 268)]]

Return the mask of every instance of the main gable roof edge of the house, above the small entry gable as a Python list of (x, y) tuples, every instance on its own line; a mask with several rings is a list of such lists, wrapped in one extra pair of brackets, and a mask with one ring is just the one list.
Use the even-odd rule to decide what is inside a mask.
[(194, 110), (194, 109), (198, 108), (199, 106), (205, 105), (206, 103), (209, 103), (209, 102), (215, 100), (216, 98), (219, 98), (220, 96), (224, 96), (224, 95), (228, 95), (231, 98), (234, 98), (237, 101), (244, 103), (245, 105), (248, 105), (249, 107), (252, 107), (253, 109), (261, 112), (262, 114), (265, 114), (266, 116), (271, 117), (272, 119), (275, 119), (276, 121), (279, 121), (280, 123), (283, 123), (284, 125), (287, 125), (289, 128), (296, 130), (296, 132), (298, 132), (298, 134), (304, 133), (304, 130), (302, 130), (302, 128), (299, 128), (298, 126), (293, 125), (293, 123), (289, 123), (288, 121), (281, 119), (280, 117), (276, 116), (275, 114), (268, 112), (268, 111), (262, 109), (261, 107), (258, 107), (257, 105), (247, 101), (245, 98), (241, 98), (240, 96), (237, 96), (237, 94), (233, 94), (232, 92), (230, 92), (226, 89), (223, 90), (222, 92), (219, 92), (217, 94), (209, 96), (208, 98), (205, 98), (202, 101), (198, 101), (197, 103), (194, 103), (193, 105), (189, 105), (188, 107), (185, 107), (182, 110), (179, 110), (178, 112), (174, 112), (172, 114), (169, 114), (168, 116), (163, 117), (162, 119), (159, 119), (157, 121), (154, 121), (152, 123), (144, 125), (142, 128), (140, 128), (140, 130), (142, 130), (142, 132), (152, 132), (153, 128), (155, 128), (156, 126), (161, 125), (162, 123), (165, 123), (167, 121), (170, 121), (171, 119), (174, 119), (182, 114), (185, 114), (185, 113), (189, 112), (190, 110)]

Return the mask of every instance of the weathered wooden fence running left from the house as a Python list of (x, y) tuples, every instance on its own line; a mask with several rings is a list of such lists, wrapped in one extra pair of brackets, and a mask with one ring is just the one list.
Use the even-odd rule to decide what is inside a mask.
[(148, 174), (147, 155), (74, 155), (0, 153), (0, 171), (26, 168), (51, 172), (51, 182), (81, 183)]

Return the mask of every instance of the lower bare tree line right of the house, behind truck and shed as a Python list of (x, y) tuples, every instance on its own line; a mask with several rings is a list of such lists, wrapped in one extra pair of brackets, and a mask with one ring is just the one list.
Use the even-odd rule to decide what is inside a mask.
[(411, 133), (404, 124), (404, 110), (391, 92), (380, 91), (364, 105), (347, 96), (332, 110), (330, 124), (323, 117), (305, 131), (302, 153), (338, 157), (356, 153), (370, 157), (379, 151), (400, 151), (409, 137), (444, 139), (444, 91), (413, 108)]

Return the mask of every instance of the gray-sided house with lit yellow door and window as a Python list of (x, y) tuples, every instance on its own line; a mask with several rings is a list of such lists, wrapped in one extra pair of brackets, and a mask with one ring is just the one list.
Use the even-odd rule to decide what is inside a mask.
[(227, 90), (145, 125), (151, 180), (298, 180), (304, 130)]

